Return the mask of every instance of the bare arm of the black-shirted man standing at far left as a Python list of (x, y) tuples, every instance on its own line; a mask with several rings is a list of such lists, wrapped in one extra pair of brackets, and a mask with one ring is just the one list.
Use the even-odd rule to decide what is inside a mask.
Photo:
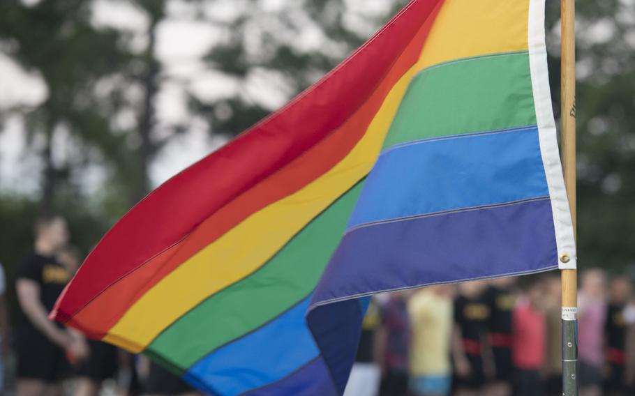
[(40, 286), (38, 283), (27, 278), (19, 278), (15, 282), (15, 291), (22, 312), (27, 315), (33, 326), (61, 348), (70, 348), (71, 344), (73, 344), (73, 337), (55, 326), (47, 318), (46, 307), (40, 302)]

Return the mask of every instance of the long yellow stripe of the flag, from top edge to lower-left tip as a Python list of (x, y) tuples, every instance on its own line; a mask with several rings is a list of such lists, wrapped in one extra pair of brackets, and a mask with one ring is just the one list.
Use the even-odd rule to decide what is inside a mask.
[[(516, 3), (523, 4), (524, 10)], [(103, 340), (140, 352), (181, 314), (257, 270), (368, 174), (412, 76), (435, 63), (526, 49), (527, 17), (523, 15), (527, 8), (526, 1), (517, 0), (446, 0), (419, 61), (391, 89), (366, 135), (338, 165), (293, 195), (254, 213), (185, 261), (137, 300)], [(509, 15), (500, 15), (504, 11)], [(518, 24), (524, 26), (524, 33)], [(484, 32), (484, 26), (496, 31)]]

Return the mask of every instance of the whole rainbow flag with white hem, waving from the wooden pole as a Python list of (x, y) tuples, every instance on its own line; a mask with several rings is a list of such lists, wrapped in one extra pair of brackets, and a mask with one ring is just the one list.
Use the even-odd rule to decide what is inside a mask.
[(373, 293), (575, 268), (544, 0), (413, 0), (140, 201), (52, 317), (215, 395), (343, 393)]

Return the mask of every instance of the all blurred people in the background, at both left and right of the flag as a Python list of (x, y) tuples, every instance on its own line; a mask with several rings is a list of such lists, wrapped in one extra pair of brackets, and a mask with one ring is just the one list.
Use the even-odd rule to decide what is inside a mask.
[[(82, 256), (61, 216), (40, 218), (33, 231), (33, 247), (17, 263), (13, 326), (0, 282), (3, 392), (195, 394), (143, 356), (47, 320)], [(633, 396), (633, 280), (589, 268), (580, 283), (580, 395)], [(557, 272), (375, 296), (345, 396), (560, 396), (560, 297)]]

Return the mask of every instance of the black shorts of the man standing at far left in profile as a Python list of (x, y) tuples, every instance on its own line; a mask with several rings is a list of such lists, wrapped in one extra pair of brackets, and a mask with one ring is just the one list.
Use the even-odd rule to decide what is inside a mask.
[(32, 327), (22, 326), (15, 337), (17, 378), (54, 383), (70, 374), (63, 349)]

